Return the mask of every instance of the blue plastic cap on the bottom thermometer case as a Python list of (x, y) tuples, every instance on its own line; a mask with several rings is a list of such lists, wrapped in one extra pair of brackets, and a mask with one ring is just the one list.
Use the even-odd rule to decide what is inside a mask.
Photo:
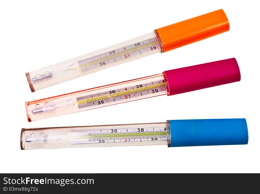
[(248, 143), (246, 119), (170, 120), (171, 147)]

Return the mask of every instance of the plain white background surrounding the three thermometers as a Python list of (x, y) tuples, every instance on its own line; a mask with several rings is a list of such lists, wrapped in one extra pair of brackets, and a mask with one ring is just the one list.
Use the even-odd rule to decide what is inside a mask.
[[(30, 92), (26, 72), (217, 9), (229, 32)], [(260, 172), (259, 16), (257, 1), (1, 1), (0, 172)], [(28, 100), (232, 57), (240, 82), (27, 122)], [(21, 128), (202, 118), (246, 118), (248, 145), (20, 150)]]

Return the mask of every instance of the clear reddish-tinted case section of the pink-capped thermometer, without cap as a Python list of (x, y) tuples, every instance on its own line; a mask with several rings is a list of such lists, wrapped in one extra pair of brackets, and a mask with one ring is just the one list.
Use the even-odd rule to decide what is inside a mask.
[(165, 94), (162, 73), (25, 103), (27, 118), (33, 121)]

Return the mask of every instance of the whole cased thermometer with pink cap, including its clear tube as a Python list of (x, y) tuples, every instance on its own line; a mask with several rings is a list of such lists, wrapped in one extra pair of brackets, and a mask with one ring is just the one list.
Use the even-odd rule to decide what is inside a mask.
[(180, 94), (239, 80), (238, 64), (235, 58), (230, 58), (28, 101), (25, 102), (26, 112), (28, 121), (33, 121), (149, 97)]

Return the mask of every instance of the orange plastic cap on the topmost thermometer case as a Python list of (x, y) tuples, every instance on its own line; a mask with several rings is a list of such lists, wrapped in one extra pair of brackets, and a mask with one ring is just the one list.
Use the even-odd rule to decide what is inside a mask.
[(228, 18), (222, 9), (156, 29), (163, 44), (163, 52), (195, 43), (228, 30)]

